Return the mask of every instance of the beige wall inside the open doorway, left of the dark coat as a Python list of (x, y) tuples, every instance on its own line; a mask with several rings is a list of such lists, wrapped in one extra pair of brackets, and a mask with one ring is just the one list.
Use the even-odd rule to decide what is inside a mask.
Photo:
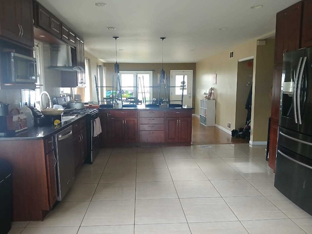
[(248, 112), (245, 105), (252, 88), (247, 86), (247, 83), (253, 81), (254, 59), (238, 62), (237, 69), (235, 129), (243, 128), (246, 124)]

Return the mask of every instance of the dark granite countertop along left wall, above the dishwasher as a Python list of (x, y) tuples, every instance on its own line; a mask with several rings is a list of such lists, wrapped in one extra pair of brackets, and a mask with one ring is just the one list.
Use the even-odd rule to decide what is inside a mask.
[(46, 137), (50, 137), (54, 134), (59, 133), (64, 130), (66, 127), (69, 127), (79, 119), (85, 117), (85, 114), (78, 114), (78, 117), (75, 117), (71, 120), (63, 122), (61, 125), (55, 127), (53, 124), (42, 126), (42, 127), (33, 127), (29, 128), (26, 131), (21, 133), (9, 135), (6, 137), (0, 137), (0, 140), (40, 140)]

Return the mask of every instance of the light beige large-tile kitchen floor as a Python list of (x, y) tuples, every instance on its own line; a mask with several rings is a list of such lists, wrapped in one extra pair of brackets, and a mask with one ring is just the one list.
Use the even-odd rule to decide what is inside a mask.
[(312, 234), (271, 171), (249, 144), (103, 149), (44, 221), (10, 234)]

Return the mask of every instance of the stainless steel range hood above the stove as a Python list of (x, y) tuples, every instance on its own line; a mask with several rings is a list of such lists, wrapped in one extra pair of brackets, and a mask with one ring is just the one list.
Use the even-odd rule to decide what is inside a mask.
[(70, 72), (84, 72), (80, 66), (72, 66), (72, 49), (68, 45), (51, 45), (51, 66), (49, 69)]

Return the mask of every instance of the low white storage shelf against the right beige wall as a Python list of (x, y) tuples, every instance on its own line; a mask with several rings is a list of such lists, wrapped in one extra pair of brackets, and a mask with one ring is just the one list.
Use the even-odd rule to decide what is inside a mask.
[(215, 100), (200, 99), (199, 122), (205, 126), (215, 126)]

